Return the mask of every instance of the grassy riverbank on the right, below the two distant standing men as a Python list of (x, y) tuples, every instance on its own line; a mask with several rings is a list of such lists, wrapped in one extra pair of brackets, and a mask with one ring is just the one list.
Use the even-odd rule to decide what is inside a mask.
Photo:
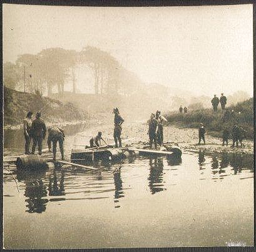
[(212, 109), (192, 110), (188, 114), (168, 114), (166, 119), (168, 124), (186, 128), (198, 128), (202, 122), (207, 132), (215, 137), (222, 137), (223, 128), (228, 127), (231, 130), (234, 124), (238, 124), (245, 130), (245, 138), (253, 139), (253, 98), (227, 107), (227, 109), (230, 112), (234, 110), (234, 116), (230, 115), (225, 120), (220, 106), (217, 113)]

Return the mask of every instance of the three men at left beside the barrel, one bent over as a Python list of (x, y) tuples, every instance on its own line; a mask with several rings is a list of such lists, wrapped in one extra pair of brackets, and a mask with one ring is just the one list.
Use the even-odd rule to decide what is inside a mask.
[[(32, 120), (33, 112), (29, 111), (26, 119), (24, 119), (24, 137), (25, 137), (25, 154), (34, 154), (36, 146), (38, 146), (38, 154), (42, 155), (43, 140), (46, 137), (46, 125), (41, 119), (41, 112), (36, 112), (36, 119)], [(51, 142), (53, 142), (53, 160), (56, 160), (56, 145), (59, 142), (61, 157), (64, 159), (64, 131), (59, 127), (48, 128), (48, 150), (51, 152)], [(33, 140), (32, 150), (29, 152), (29, 145)]]

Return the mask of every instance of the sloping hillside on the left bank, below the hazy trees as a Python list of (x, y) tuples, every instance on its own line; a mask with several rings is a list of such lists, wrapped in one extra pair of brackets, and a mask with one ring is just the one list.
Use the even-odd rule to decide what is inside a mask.
[(84, 120), (88, 117), (84, 110), (71, 103), (4, 87), (4, 126), (22, 124), (29, 110), (34, 115), (36, 111), (41, 111), (44, 121), (50, 123)]

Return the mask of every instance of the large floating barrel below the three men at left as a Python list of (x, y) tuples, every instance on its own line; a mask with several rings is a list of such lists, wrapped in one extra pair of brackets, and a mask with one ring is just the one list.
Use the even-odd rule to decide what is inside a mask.
[(19, 169), (46, 168), (47, 164), (40, 155), (22, 155), (16, 160), (16, 167)]

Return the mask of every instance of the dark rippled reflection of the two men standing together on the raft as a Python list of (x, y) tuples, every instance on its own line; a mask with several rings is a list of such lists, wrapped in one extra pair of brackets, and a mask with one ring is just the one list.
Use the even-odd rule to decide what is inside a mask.
[(162, 188), (163, 185), (160, 184), (163, 182), (163, 160), (161, 158), (155, 158), (154, 160), (150, 158), (150, 175), (148, 180), (148, 187), (150, 187), (152, 194), (165, 190), (165, 188)]

